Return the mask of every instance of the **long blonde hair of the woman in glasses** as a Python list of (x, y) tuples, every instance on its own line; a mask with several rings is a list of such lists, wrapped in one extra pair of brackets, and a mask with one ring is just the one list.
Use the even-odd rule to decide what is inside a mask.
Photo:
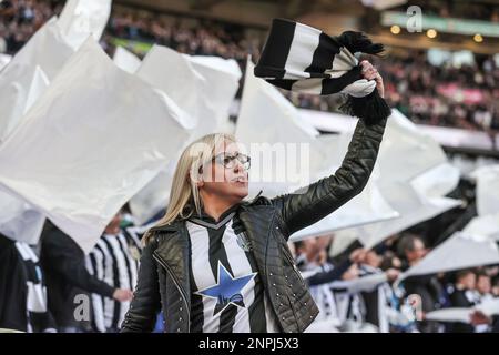
[[(217, 146), (224, 142), (235, 143), (236, 141), (232, 134), (212, 133), (185, 148), (173, 174), (166, 213), (153, 229), (169, 225), (179, 217), (189, 219), (194, 212), (201, 215), (202, 201), (197, 189), (201, 168), (213, 160)], [(147, 231), (144, 243), (149, 243), (151, 237), (152, 233)]]

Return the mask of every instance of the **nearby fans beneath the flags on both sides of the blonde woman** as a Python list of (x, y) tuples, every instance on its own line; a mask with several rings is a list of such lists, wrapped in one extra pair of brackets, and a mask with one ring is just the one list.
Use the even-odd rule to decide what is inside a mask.
[[(0, 332), (119, 332), (138, 282), (141, 239), (154, 223), (136, 226), (124, 209), (88, 255), (49, 221), (38, 245), (0, 234)], [(308, 332), (499, 332), (499, 316), (479, 308), (497, 307), (499, 265), (399, 282), (435, 247), (427, 235), (406, 231), (369, 250), (355, 241), (332, 254), (334, 239), (289, 243), (320, 310)], [(448, 307), (468, 308), (469, 320), (427, 316)], [(155, 332), (164, 331), (162, 320), (160, 312)]]

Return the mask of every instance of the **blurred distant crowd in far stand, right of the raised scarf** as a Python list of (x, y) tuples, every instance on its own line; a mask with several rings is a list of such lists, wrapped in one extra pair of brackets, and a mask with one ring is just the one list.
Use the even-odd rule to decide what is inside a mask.
[(377, 60), (393, 106), (414, 121), (468, 130), (499, 129), (499, 68), (491, 57), (481, 64), (431, 65), (426, 52)]

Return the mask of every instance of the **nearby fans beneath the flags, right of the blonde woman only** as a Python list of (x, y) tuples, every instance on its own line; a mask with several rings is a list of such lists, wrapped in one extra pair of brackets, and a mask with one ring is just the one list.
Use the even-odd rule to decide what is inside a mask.
[[(437, 322), (427, 314), (441, 308), (470, 308), (499, 297), (499, 267), (458, 270), (409, 276), (401, 272), (430, 251), (419, 235), (401, 233), (365, 250), (354, 242), (330, 257), (332, 236), (296, 243), (299, 267), (307, 278), (320, 314), (318, 332), (485, 333), (498, 332), (498, 318), (475, 315), (469, 322)], [(497, 298), (496, 298), (497, 300)]]

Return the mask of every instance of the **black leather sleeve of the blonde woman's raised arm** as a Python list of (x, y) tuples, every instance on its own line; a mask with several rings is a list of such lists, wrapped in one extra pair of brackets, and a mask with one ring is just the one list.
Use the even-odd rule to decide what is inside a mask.
[(386, 122), (387, 119), (367, 125), (359, 120), (342, 166), (333, 175), (272, 200), (281, 210), (289, 235), (327, 216), (364, 190), (378, 155)]

